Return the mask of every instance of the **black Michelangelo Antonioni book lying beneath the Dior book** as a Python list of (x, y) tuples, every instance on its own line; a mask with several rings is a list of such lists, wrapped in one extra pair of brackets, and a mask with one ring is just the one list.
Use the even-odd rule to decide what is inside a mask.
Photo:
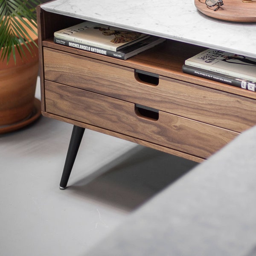
[(81, 49), (81, 50), (84, 50), (87, 52), (94, 52), (97, 54), (106, 55), (106, 56), (113, 57), (113, 58), (119, 58), (122, 60), (126, 60), (127, 58), (137, 55), (138, 53), (143, 52), (146, 49), (150, 49), (150, 48), (162, 43), (165, 40), (166, 40), (165, 38), (150, 36), (148, 38), (145, 38), (142, 41), (137, 42), (136, 44), (126, 46), (126, 47), (122, 48), (121, 50), (119, 50), (118, 52), (115, 52), (115, 51), (111, 51), (111, 50), (102, 49), (99, 47), (92, 47), (87, 44), (79, 44), (79, 43), (75, 43), (73, 41), (68, 41), (66, 39), (54, 37), (55, 44), (61, 44), (61, 45), (65, 45), (68, 47)]

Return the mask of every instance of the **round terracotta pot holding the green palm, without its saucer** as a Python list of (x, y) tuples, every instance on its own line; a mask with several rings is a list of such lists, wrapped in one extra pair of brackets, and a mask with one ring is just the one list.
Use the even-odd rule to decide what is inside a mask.
[[(27, 30), (38, 43), (37, 36)], [(10, 125), (26, 119), (34, 108), (35, 86), (38, 76), (38, 48), (32, 44), (32, 55), (22, 46), (26, 57), (16, 51), (16, 64), (11, 57), (8, 64), (0, 62), (0, 125)], [(2, 50), (0, 51), (1, 54)]]

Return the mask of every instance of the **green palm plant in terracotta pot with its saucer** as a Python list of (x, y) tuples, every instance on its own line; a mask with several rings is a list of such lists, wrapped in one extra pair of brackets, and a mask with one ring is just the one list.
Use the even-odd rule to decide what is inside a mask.
[(35, 99), (40, 0), (0, 0), (0, 133), (30, 123), (40, 112)]

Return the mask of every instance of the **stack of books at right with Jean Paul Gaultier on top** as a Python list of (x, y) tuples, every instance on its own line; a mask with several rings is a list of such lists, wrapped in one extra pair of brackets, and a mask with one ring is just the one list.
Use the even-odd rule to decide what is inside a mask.
[(256, 58), (206, 49), (189, 58), (184, 73), (256, 91)]

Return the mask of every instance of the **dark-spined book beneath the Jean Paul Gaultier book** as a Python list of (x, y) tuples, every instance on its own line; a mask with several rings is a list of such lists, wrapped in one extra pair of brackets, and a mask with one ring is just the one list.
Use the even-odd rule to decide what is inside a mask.
[(192, 67), (187, 65), (182, 66), (182, 71), (184, 73), (203, 77), (212, 81), (218, 81), (224, 84), (230, 84), (242, 89), (251, 90), (253, 92), (256, 91), (256, 83), (252, 81), (248, 81), (248, 80), (244, 80), (244, 79), (240, 79), (233, 76), (228, 76), (228, 75), (224, 75), (221, 73), (216, 73), (208, 70), (203, 70), (198, 67)]

